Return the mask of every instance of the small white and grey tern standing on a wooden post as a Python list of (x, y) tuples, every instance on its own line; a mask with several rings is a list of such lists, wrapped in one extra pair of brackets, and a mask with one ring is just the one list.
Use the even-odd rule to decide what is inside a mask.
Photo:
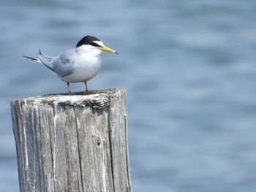
[(69, 94), (73, 94), (69, 87), (70, 82), (84, 82), (85, 93), (89, 93), (87, 81), (100, 71), (102, 61), (99, 55), (102, 51), (118, 54), (106, 47), (97, 37), (88, 35), (80, 39), (75, 48), (66, 50), (59, 56), (50, 57), (39, 50), (38, 58), (25, 55), (23, 57), (44, 64), (55, 72), (62, 81), (67, 82)]

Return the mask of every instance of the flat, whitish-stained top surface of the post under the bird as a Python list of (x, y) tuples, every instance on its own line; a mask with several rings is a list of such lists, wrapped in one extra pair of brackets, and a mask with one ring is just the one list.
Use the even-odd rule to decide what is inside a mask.
[(94, 108), (103, 108), (109, 105), (109, 97), (115, 96), (116, 94), (126, 93), (125, 88), (115, 88), (115, 89), (105, 89), (90, 91), (88, 94), (84, 92), (77, 92), (72, 95), (68, 93), (57, 93), (49, 94), (45, 96), (34, 96), (24, 99), (14, 99), (21, 100), (24, 103), (48, 103), (48, 104), (64, 104), (72, 106), (86, 106), (91, 105)]

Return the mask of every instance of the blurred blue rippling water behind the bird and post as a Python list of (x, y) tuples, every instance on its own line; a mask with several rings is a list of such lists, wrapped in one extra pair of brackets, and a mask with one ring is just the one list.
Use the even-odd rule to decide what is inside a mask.
[(0, 191), (19, 191), (10, 101), (67, 92), (22, 55), (88, 34), (119, 53), (89, 89), (127, 88), (133, 191), (255, 191), (255, 0), (4, 0), (0, 20)]

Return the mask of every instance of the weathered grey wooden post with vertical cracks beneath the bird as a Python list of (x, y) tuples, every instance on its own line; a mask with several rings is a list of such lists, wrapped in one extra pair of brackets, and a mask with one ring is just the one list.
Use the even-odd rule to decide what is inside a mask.
[(132, 191), (125, 89), (11, 102), (20, 191)]

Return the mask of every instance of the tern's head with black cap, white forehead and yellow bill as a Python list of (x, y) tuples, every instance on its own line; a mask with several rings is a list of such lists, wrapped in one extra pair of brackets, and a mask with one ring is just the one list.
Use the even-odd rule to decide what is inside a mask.
[(106, 51), (109, 53), (116, 53), (115, 50), (110, 49), (109, 47), (106, 47), (101, 40), (99, 40), (97, 37), (93, 36), (86, 36), (83, 37), (83, 39), (80, 39), (78, 44), (76, 45), (76, 48), (83, 48), (84, 51), (88, 52), (94, 52), (95, 54), (99, 54), (101, 51)]

